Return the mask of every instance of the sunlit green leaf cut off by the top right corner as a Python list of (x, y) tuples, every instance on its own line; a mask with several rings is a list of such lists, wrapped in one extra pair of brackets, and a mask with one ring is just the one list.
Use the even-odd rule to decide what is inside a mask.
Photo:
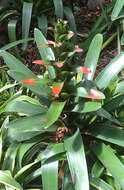
[(124, 6), (124, 1), (122, 1), (122, 0), (116, 1), (114, 9), (113, 9), (112, 14), (111, 14), (111, 20), (112, 21), (118, 19), (119, 13), (122, 10), (123, 6)]

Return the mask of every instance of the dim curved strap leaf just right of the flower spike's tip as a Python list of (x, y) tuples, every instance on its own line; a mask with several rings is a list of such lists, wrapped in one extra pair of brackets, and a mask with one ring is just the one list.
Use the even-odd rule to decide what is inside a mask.
[(76, 28), (76, 23), (75, 23), (75, 18), (72, 13), (72, 10), (69, 7), (64, 7), (64, 14), (67, 17), (67, 20), (69, 21), (69, 26), (70, 29), (74, 32), (74, 41), (76, 42), (77, 40), (77, 28)]

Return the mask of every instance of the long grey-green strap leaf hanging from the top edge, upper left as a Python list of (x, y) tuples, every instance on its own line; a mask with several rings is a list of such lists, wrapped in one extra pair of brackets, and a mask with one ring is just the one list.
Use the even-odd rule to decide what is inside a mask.
[[(33, 3), (24, 2), (22, 10), (22, 39), (28, 38)], [(27, 43), (24, 43), (23, 50), (25, 51)]]

